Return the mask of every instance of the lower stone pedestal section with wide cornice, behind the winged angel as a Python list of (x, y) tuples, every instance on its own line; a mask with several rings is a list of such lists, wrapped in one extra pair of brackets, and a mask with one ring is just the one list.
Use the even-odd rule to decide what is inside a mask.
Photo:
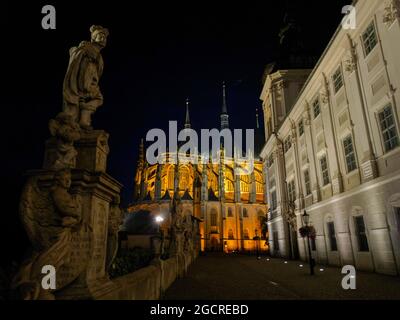
[[(79, 248), (74, 247), (68, 266), (56, 270), (61, 282), (64, 276), (76, 270), (84, 270), (79, 277), (55, 292), (57, 299), (92, 299), (97, 288), (109, 281), (106, 261), (110, 213), (113, 206), (119, 204), (119, 194), (122, 185), (103, 172), (89, 172), (74, 169), (70, 194), (76, 196), (82, 207), (82, 222), (88, 230), (86, 236), (79, 242)], [(32, 170), (30, 177), (38, 179), (42, 190), (49, 190), (54, 181), (54, 171)], [(57, 280), (58, 282), (58, 280)]]

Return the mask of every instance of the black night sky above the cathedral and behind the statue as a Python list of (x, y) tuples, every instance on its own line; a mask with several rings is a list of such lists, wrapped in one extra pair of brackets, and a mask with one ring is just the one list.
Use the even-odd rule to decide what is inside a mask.
[[(18, 260), (26, 246), (17, 215), (23, 175), (42, 166), (48, 121), (61, 111), (69, 48), (90, 39), (92, 24), (110, 30), (102, 51), (104, 105), (93, 126), (110, 133), (108, 172), (124, 185), (126, 205), (148, 130), (167, 128), (168, 120), (183, 125), (187, 97), (192, 127), (218, 128), (223, 80), (231, 128), (254, 128), (264, 68), (282, 54), (285, 14), (295, 19), (304, 52), (319, 57), (351, 1), (30, 2), (1, 4), (0, 11), (1, 265)], [(45, 4), (56, 7), (56, 30), (41, 28)]]

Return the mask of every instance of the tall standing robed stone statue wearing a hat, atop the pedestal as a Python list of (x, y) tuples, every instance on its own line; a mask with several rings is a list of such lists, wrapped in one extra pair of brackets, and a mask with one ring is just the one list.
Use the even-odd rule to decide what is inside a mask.
[(108, 30), (91, 26), (91, 41), (82, 41), (70, 49), (70, 60), (64, 78), (63, 111), (84, 129), (91, 129), (91, 115), (103, 104), (99, 80), (103, 73), (101, 49), (106, 46)]

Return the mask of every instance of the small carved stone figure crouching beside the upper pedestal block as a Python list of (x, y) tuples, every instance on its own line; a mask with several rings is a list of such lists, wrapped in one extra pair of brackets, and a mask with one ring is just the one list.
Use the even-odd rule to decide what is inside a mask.
[(50, 169), (75, 168), (78, 152), (74, 148), (74, 142), (81, 137), (79, 125), (70, 114), (60, 112), (55, 119), (49, 121), (49, 129), (56, 138), (56, 157)]

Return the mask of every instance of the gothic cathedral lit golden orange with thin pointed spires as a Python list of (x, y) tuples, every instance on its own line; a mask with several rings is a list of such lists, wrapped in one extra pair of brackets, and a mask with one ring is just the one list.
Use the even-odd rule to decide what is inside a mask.
[[(264, 133), (256, 114), (255, 151), (260, 151)], [(226, 88), (223, 85), (221, 130), (229, 128)], [(189, 101), (186, 101), (185, 129), (191, 128)], [(174, 154), (176, 156), (176, 154)], [(128, 213), (149, 211), (162, 215), (162, 230), (168, 232), (171, 224), (172, 199), (177, 199), (184, 215), (200, 221), (202, 251), (261, 252), (268, 250), (266, 223), (267, 203), (263, 163), (255, 154), (254, 170), (249, 175), (235, 174), (239, 166), (233, 158), (224, 156), (217, 163), (204, 162), (199, 158), (189, 163), (173, 164), (174, 156), (166, 152), (166, 161), (150, 165), (145, 159), (143, 140), (139, 148), (134, 185), (134, 202)], [(196, 156), (197, 157), (197, 156)]]

